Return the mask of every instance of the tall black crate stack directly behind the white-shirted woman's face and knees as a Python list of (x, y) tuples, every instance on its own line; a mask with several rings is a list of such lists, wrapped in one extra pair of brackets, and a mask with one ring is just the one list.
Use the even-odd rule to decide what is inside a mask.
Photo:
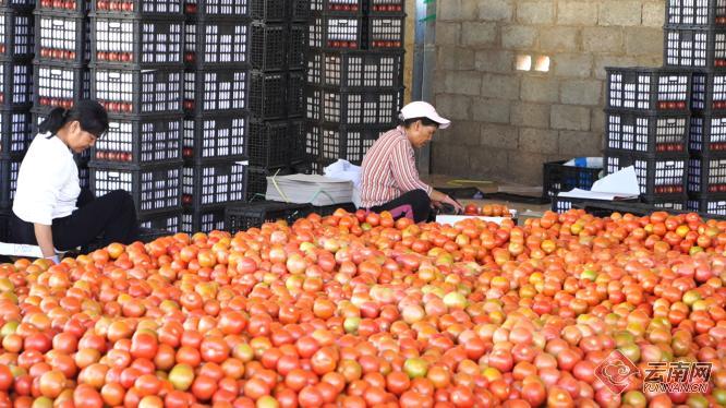
[(90, 97), (110, 124), (90, 151), (90, 189), (97, 196), (126, 190), (143, 228), (179, 231), (183, 4), (93, 1)]

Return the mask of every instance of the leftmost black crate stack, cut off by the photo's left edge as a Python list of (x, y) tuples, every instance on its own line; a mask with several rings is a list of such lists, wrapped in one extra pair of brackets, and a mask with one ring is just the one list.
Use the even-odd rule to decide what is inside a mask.
[[(44, 0), (45, 1), (45, 0)], [(0, 2), (0, 241), (32, 133), (35, 1)]]

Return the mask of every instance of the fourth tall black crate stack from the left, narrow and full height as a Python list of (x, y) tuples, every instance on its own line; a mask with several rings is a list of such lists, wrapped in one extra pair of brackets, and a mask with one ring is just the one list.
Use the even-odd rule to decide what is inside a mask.
[(250, 4), (187, 0), (185, 13), (182, 230), (208, 232), (245, 200)]

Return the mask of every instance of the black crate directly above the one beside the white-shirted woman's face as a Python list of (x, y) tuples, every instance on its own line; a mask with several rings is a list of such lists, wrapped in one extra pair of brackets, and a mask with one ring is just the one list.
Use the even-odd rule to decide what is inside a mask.
[(109, 113), (182, 113), (183, 70), (92, 69), (90, 96)]

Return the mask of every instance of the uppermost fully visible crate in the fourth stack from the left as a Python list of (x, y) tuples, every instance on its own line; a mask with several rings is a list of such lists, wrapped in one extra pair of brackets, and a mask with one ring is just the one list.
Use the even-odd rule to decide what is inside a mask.
[(184, 62), (197, 68), (250, 63), (250, 21), (187, 21)]

